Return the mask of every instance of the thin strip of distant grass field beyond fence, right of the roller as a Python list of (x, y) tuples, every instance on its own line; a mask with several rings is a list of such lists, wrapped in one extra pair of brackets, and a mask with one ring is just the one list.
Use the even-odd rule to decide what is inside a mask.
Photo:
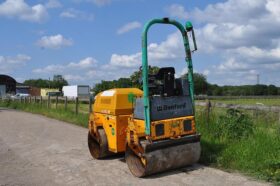
[[(197, 100), (201, 102), (200, 100)], [(226, 103), (226, 104), (239, 104), (239, 105), (256, 105), (263, 104), (267, 106), (280, 106), (280, 99), (214, 99), (211, 102)], [(203, 102), (203, 101), (202, 101)]]

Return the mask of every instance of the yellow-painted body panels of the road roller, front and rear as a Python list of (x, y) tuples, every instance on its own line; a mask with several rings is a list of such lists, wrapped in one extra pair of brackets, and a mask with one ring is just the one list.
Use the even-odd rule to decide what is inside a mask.
[[(139, 140), (161, 140), (180, 138), (196, 133), (194, 116), (170, 118), (151, 122), (151, 135), (145, 135), (144, 120), (133, 118), (133, 103), (128, 95), (133, 93), (136, 97), (142, 96), (142, 91), (136, 88), (111, 89), (99, 93), (95, 97), (93, 112), (89, 117), (89, 130), (94, 135), (97, 128), (105, 130), (108, 146), (111, 152), (124, 152), (126, 143), (132, 147), (136, 154), (141, 154)], [(184, 121), (192, 121), (192, 130), (184, 131)], [(164, 134), (156, 136), (156, 125), (164, 125)], [(141, 159), (142, 160), (142, 159)], [(143, 163), (144, 159), (142, 160)]]

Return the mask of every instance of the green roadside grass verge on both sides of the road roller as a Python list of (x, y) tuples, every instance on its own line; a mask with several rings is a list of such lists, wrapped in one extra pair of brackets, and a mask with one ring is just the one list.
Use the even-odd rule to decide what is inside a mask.
[[(84, 111), (88, 109), (84, 105)], [(87, 127), (88, 113), (75, 114), (52, 105), (0, 102), (0, 107), (23, 110)], [(200, 163), (227, 171), (240, 171), (280, 185), (279, 115), (213, 108), (207, 119), (203, 107), (196, 107), (197, 130), (202, 134)]]

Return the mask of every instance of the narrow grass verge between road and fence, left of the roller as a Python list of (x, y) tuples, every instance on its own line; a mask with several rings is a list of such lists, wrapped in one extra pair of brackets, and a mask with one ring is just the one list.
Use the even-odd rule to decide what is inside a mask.
[(40, 105), (36, 103), (19, 103), (13, 101), (0, 102), (0, 107), (6, 107), (11, 109), (22, 110), (35, 114), (41, 114), (50, 118), (55, 118), (61, 121), (73, 123), (82, 127), (88, 126), (88, 113), (80, 112), (75, 114), (72, 109), (65, 110), (64, 107), (58, 107), (57, 109), (46, 108), (46, 105)]

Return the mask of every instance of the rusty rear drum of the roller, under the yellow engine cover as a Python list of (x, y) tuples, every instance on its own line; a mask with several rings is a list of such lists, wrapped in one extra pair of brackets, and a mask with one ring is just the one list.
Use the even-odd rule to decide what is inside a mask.
[(97, 137), (92, 136), (88, 132), (88, 148), (90, 154), (95, 159), (101, 159), (111, 155), (108, 150), (108, 140), (104, 129), (97, 130)]

